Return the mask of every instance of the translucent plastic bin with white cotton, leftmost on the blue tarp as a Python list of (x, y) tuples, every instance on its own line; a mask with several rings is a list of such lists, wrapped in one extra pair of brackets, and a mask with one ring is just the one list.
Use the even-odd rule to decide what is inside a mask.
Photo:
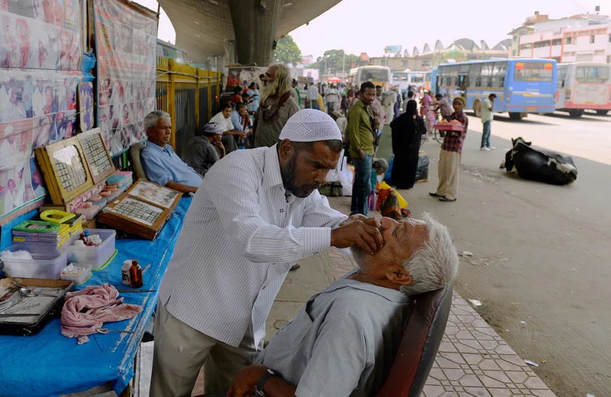
[[(114, 247), (114, 240), (113, 240)], [(5, 251), (22, 250), (17, 245), (11, 245)], [(4, 271), (11, 277), (20, 278), (52, 278), (59, 279), (62, 268), (67, 264), (67, 253), (42, 252), (29, 250), (32, 260), (1, 258), (4, 262)], [(1, 253), (0, 253), (1, 254)]]

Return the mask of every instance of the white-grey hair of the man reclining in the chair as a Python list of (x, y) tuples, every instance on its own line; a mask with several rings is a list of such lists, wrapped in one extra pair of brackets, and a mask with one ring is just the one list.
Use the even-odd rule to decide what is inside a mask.
[(403, 262), (412, 283), (401, 285), (407, 295), (439, 290), (452, 283), (459, 267), (459, 257), (449, 230), (428, 213), (423, 213), (427, 240), (414, 255)]

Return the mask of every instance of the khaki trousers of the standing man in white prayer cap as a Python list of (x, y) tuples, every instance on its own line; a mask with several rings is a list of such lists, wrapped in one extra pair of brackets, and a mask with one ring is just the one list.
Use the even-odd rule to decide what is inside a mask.
[(178, 320), (159, 301), (150, 396), (190, 397), (202, 365), (205, 393), (226, 392), (258, 354), (252, 335), (249, 329), (238, 347), (230, 346)]

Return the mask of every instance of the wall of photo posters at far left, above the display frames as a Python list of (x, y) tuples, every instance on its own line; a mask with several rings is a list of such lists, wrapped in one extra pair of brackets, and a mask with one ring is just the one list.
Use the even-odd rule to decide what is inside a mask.
[(34, 149), (75, 133), (81, 1), (0, 0), (0, 221), (46, 195)]

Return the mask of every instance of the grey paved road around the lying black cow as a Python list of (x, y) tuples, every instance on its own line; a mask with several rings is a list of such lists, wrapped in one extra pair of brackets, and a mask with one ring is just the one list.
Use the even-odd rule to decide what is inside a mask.
[[(611, 396), (611, 116), (495, 116), (480, 152), (481, 123), (470, 118), (459, 199), (440, 203), (429, 182), (405, 191), (414, 213), (431, 210), (454, 231), (462, 260), (456, 288), (479, 299), (482, 316), (558, 396)], [(573, 156), (577, 181), (557, 187), (499, 170), (511, 137)], [(439, 144), (423, 149), (438, 157)]]

